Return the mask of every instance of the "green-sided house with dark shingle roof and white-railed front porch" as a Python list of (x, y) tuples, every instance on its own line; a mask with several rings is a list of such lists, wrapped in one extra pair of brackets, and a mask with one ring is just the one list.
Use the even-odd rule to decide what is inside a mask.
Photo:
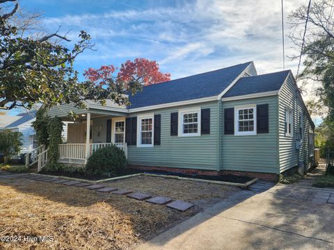
[(80, 116), (68, 125), (60, 161), (85, 165), (114, 143), (132, 167), (188, 174), (269, 179), (314, 163), (315, 125), (289, 70), (257, 75), (253, 62), (243, 63), (145, 86), (129, 101), (51, 108), (63, 121), (71, 110)]

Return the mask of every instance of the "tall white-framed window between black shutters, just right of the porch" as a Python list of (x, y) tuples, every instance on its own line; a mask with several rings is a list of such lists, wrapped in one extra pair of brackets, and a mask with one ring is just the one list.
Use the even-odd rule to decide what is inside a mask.
[(154, 115), (138, 117), (137, 147), (153, 147)]

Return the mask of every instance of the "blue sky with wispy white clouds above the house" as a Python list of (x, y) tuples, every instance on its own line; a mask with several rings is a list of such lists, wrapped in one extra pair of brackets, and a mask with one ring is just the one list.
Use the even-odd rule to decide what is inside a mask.
[[(305, 0), (285, 1), (285, 17)], [(74, 67), (119, 66), (136, 57), (157, 60), (172, 78), (255, 62), (264, 74), (283, 70), (280, 0), (102, 1), (29, 0), (22, 8), (43, 12), (42, 27), (77, 41), (87, 31), (95, 51), (81, 54)], [(289, 24), (285, 18), (285, 34)], [(286, 55), (298, 53), (285, 38)], [(70, 46), (70, 44), (67, 44)], [(285, 60), (296, 74), (296, 61)], [(308, 94), (304, 99), (312, 94)]]

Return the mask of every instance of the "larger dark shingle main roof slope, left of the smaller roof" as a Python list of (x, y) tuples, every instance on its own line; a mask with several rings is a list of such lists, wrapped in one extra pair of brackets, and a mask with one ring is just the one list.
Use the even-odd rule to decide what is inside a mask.
[(221, 94), (251, 62), (145, 86), (142, 92), (129, 94), (131, 106), (141, 108), (175, 101), (187, 101)]

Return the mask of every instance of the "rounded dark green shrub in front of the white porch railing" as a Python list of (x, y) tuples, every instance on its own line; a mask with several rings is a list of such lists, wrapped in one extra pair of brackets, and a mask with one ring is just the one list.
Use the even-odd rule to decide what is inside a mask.
[(86, 169), (93, 176), (114, 176), (125, 170), (126, 167), (127, 158), (124, 151), (111, 145), (94, 151), (88, 158)]

